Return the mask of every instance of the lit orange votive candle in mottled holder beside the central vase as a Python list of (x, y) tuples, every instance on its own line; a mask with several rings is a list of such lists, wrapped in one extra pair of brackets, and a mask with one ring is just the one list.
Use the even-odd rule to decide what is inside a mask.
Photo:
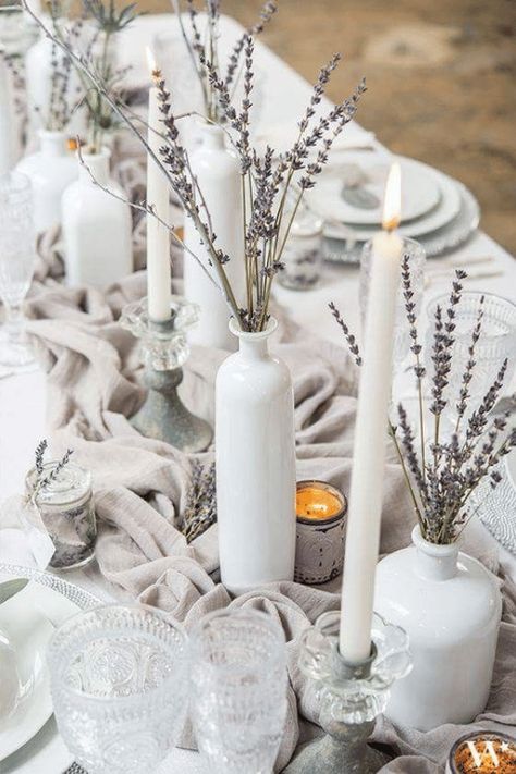
[(324, 481), (298, 481), (294, 580), (325, 583), (342, 573), (347, 500)]

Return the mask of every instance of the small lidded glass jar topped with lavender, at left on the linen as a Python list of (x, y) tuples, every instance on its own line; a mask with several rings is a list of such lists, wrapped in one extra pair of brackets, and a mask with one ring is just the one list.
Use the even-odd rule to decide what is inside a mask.
[[(42, 477), (48, 477), (57, 460), (44, 465)], [(30, 494), (37, 481), (33, 468), (26, 478)], [(83, 567), (91, 561), (97, 538), (97, 525), (91, 494), (91, 474), (67, 463), (56, 479), (36, 494), (35, 504), (56, 548), (50, 560), (53, 569)]]

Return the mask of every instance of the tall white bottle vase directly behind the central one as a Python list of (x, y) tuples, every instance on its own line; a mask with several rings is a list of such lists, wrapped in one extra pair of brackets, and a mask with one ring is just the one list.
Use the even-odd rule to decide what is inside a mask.
[[(223, 130), (211, 124), (200, 126), (201, 144), (191, 156), (192, 170), (197, 177), (210, 212), (217, 245), (230, 257), (224, 266), (231, 286), (239, 305), (245, 300), (245, 263), (243, 202), (238, 161), (225, 147)], [(202, 214), (202, 209), (201, 209)], [(206, 218), (205, 218), (206, 220)], [(201, 244), (195, 225), (187, 218), (184, 239), (212, 277), (209, 253)], [(194, 258), (185, 251), (184, 295), (200, 306), (199, 324), (188, 336), (204, 346), (234, 352), (237, 340), (230, 334), (230, 311), (221, 291), (210, 282)]]

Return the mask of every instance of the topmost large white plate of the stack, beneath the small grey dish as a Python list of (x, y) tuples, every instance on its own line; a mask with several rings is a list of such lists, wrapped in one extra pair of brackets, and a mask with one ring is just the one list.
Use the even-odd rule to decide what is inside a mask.
[[(435, 209), (441, 201), (442, 191), (439, 174), (431, 167), (407, 159), (393, 157), (402, 168), (402, 223), (414, 221)], [(307, 195), (309, 206), (325, 221), (336, 221), (355, 226), (379, 226), (383, 214), (383, 193), (391, 167), (389, 162), (363, 165), (368, 182), (364, 188), (373, 194), (379, 202), (374, 209), (353, 207), (342, 198), (343, 173), (330, 165), (316, 187)], [(342, 165), (341, 165), (342, 170)]]

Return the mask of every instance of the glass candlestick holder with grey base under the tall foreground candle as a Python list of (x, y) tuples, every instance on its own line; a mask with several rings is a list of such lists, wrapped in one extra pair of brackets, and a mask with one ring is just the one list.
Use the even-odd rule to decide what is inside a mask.
[(377, 614), (370, 658), (348, 664), (339, 652), (340, 612), (323, 613), (302, 639), (299, 667), (314, 683), (323, 737), (305, 745), (284, 774), (373, 774), (385, 755), (367, 745), (389, 689), (410, 672), (408, 637)]

